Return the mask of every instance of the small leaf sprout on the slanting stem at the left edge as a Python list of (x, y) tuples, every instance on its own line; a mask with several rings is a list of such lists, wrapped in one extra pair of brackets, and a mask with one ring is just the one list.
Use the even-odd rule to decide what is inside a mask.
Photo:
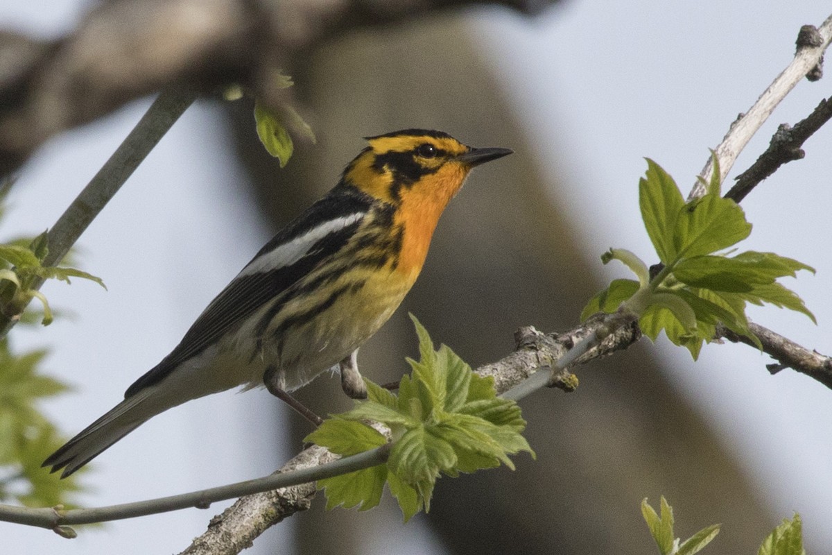
[(2, 311), (7, 315), (21, 315), (32, 298), (37, 298), (43, 306), (43, 325), (52, 323), (52, 310), (46, 296), (35, 287), (37, 280), (62, 280), (70, 283), (70, 278), (77, 277), (95, 281), (106, 289), (101, 278), (83, 270), (65, 266), (44, 266), (43, 259), (48, 254), (47, 233), (44, 231), (31, 242), (17, 241), (0, 245), (0, 302)]

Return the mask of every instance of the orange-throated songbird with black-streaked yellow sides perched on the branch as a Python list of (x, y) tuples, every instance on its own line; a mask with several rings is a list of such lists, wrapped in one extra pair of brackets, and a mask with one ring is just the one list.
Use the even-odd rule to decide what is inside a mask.
[(346, 394), (366, 396), (359, 346), (414, 285), (468, 172), (512, 152), (421, 129), (367, 140), (338, 185), (260, 249), (176, 349), (44, 466), (67, 477), (156, 414), (238, 385), (289, 400), (334, 368)]

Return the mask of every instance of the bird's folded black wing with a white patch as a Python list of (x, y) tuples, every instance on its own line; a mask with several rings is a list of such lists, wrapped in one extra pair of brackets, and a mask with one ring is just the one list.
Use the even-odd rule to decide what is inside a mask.
[(125, 398), (159, 383), (179, 364), (217, 343), (246, 317), (343, 249), (369, 206), (363, 195), (330, 195), (310, 206), (260, 249), (211, 301), (171, 354), (127, 389)]

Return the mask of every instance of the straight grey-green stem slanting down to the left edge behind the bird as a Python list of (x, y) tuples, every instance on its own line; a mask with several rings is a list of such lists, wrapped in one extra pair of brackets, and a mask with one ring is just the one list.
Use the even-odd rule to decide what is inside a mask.
[[(61, 262), (87, 226), (115, 196), (179, 116), (191, 106), (195, 98), (193, 92), (161, 92), (104, 166), (49, 230), (49, 252), (42, 262), (43, 265), (53, 266)], [(41, 285), (43, 280), (37, 280), (32, 289), (38, 290)], [(0, 337), (5, 337), (9, 330), (12, 330), (26, 306), (3, 308), (0, 313)]]

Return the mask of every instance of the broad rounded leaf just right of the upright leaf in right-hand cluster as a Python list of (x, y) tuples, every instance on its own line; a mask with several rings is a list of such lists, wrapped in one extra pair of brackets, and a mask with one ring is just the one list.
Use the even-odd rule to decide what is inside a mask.
[(676, 217), (672, 233), (676, 258), (671, 261), (727, 249), (750, 233), (751, 225), (734, 201), (715, 195), (702, 196), (686, 204)]

